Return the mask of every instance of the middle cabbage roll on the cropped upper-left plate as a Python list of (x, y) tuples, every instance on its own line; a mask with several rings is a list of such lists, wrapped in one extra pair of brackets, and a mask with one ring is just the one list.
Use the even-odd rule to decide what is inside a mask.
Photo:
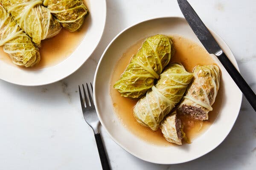
[(41, 40), (54, 37), (61, 31), (61, 24), (49, 9), (42, 6), (42, 0), (1, 0), (3, 7), (17, 24), (37, 45)]

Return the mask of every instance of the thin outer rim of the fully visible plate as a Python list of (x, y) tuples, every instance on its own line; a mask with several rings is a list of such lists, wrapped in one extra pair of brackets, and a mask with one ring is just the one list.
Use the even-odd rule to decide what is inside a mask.
[[(99, 62), (98, 62), (98, 64), (97, 64), (96, 71), (95, 71), (95, 74), (94, 74), (94, 78), (93, 78), (93, 101), (94, 101), (95, 108), (96, 108), (96, 112), (97, 112), (97, 116), (98, 116), (98, 118), (99, 118), (99, 121), (100, 121), (101, 125), (105, 128), (105, 131), (107, 132), (108, 136), (110, 136), (110, 138), (111, 138), (116, 144), (118, 144), (120, 147), (122, 147), (123, 150), (125, 150), (126, 152), (130, 153), (131, 155), (133, 155), (133, 156), (135, 156), (135, 157), (137, 157), (137, 158), (139, 158), (139, 159), (141, 159), (141, 160), (143, 160), (143, 161), (151, 162), (151, 163), (154, 163), (154, 164), (180, 164), (180, 163), (185, 163), (185, 162), (188, 162), (188, 161), (192, 161), (192, 160), (198, 159), (198, 158), (200, 158), (201, 156), (206, 155), (207, 153), (211, 152), (211, 151), (214, 150), (216, 147), (218, 147), (218, 146), (227, 138), (227, 136), (230, 134), (230, 131), (232, 130), (232, 128), (233, 128), (233, 126), (234, 126), (234, 124), (235, 124), (235, 122), (236, 122), (236, 120), (237, 120), (237, 117), (239, 116), (239, 112), (240, 112), (240, 108), (241, 108), (241, 103), (242, 103), (242, 96), (243, 96), (243, 94), (242, 94), (241, 91), (239, 91), (239, 96), (240, 96), (240, 97), (239, 97), (238, 100), (239, 100), (240, 105), (239, 105), (238, 113), (236, 114), (236, 118), (233, 119), (233, 120), (234, 120), (234, 122), (232, 122), (233, 125), (230, 126), (230, 129), (228, 129), (227, 135), (226, 135), (223, 139), (221, 139), (220, 142), (218, 142), (218, 144), (216, 144), (216, 146), (212, 147), (212, 148), (209, 149), (209, 150), (206, 150), (204, 153), (199, 154), (198, 156), (195, 156), (195, 157), (193, 157), (192, 159), (187, 159), (187, 160), (183, 160), (183, 161), (177, 161), (177, 162), (174, 162), (174, 163), (167, 163), (167, 162), (154, 161), (154, 160), (152, 160), (152, 159), (145, 159), (145, 158), (143, 158), (143, 157), (141, 157), (141, 156), (138, 156), (136, 153), (130, 151), (127, 147), (125, 147), (124, 145), (122, 145), (121, 143), (119, 143), (119, 142), (111, 135), (111, 133), (110, 133), (110, 132), (108, 131), (108, 129), (106, 128), (104, 122), (102, 121), (102, 118), (101, 118), (101, 116), (100, 116), (100, 114), (99, 114), (98, 103), (97, 103), (97, 100), (96, 100), (96, 93), (95, 93), (95, 91), (96, 91), (96, 88), (95, 88), (96, 86), (95, 86), (95, 85), (96, 85), (96, 79), (97, 79), (97, 75), (98, 75), (98, 71), (99, 71), (99, 66), (101, 65), (102, 59), (104, 58), (106, 52), (108, 51), (108, 48), (113, 44), (113, 42), (117, 39), (117, 37), (119, 37), (122, 33), (124, 33), (125, 31), (127, 31), (128, 29), (130, 29), (130, 28), (132, 28), (132, 27), (134, 27), (134, 26), (137, 26), (137, 25), (139, 25), (139, 24), (142, 24), (142, 23), (145, 23), (145, 22), (148, 22), (148, 21), (151, 21), (151, 20), (160, 20), (160, 19), (165, 19), (165, 18), (178, 18), (178, 19), (186, 20), (184, 17), (180, 17), (180, 16), (162, 16), (162, 17), (160, 16), (160, 17), (152, 17), (152, 18), (149, 18), (149, 19), (146, 19), (146, 20), (139, 21), (139, 22), (137, 22), (137, 23), (135, 23), (135, 24), (132, 24), (131, 26), (128, 26), (128, 27), (124, 28), (122, 31), (120, 31), (118, 34), (116, 34), (116, 36), (111, 40), (111, 42), (109, 42), (108, 46), (105, 48), (104, 52), (102, 53), (102, 56), (101, 56), (100, 59), (99, 59)], [(218, 38), (220, 38), (220, 39), (224, 42), (224, 44), (227, 45), (227, 43), (226, 43), (215, 31), (213, 31), (213, 30), (212, 30), (211, 28), (209, 28), (209, 27), (207, 27), (207, 28), (209, 29), (209, 31), (215, 33), (215, 34), (218, 36)], [(230, 47), (229, 47), (228, 45), (227, 45), (227, 47), (229, 48), (231, 54), (234, 56), (234, 54), (233, 54), (233, 52), (231, 51)], [(236, 67), (236, 68), (238, 69), (238, 71), (239, 71), (239, 67), (238, 67), (236, 58), (234, 57), (234, 59), (235, 59), (235, 63), (234, 63), (234, 64), (235, 64), (235, 67)], [(240, 72), (240, 71), (239, 71), (239, 72)], [(131, 133), (131, 132), (130, 132), (130, 133)]]

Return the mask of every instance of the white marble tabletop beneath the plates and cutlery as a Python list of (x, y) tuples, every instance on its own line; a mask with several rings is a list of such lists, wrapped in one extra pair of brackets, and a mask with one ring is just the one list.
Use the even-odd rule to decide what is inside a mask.
[[(241, 74), (256, 91), (256, 1), (189, 2), (204, 23), (227, 42)], [(181, 16), (177, 1), (107, 0), (102, 41), (76, 73), (40, 87), (22, 87), (0, 80), (0, 169), (100, 170), (93, 132), (81, 114), (77, 86), (93, 80), (102, 52), (119, 31), (160, 16)], [(113, 142), (102, 127), (101, 131), (113, 170), (256, 168), (256, 114), (244, 98), (236, 124), (224, 142), (207, 155), (183, 164), (160, 165), (137, 159)]]

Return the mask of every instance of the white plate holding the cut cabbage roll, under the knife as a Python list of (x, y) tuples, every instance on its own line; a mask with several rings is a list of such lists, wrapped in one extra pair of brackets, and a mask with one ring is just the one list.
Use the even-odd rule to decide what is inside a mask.
[[(236, 59), (230, 48), (215, 32), (211, 31), (227, 56), (237, 67)], [(221, 63), (221, 83), (224, 86), (223, 103), (218, 117), (209, 129), (196, 138), (192, 144), (182, 146), (157, 146), (140, 140), (129, 132), (113, 111), (110, 96), (110, 79), (116, 62), (123, 52), (144, 37), (154, 34), (180, 34), (199, 42), (184, 18), (163, 17), (147, 20), (126, 28), (108, 45), (99, 61), (94, 78), (94, 101), (100, 122), (111, 138), (123, 149), (145, 161), (159, 164), (177, 164), (196, 159), (217, 147), (228, 135), (239, 114), (242, 93), (237, 88)]]

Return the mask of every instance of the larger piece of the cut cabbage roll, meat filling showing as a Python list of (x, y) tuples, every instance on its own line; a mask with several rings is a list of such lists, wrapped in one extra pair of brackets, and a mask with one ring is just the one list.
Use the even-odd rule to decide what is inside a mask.
[(207, 120), (219, 89), (220, 71), (216, 65), (196, 66), (194, 80), (189, 86), (178, 111), (198, 120)]

